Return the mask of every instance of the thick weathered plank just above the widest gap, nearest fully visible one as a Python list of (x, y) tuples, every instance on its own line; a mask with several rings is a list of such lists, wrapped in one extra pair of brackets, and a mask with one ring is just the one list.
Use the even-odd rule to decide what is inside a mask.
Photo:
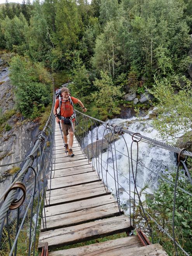
[(99, 221), (59, 228), (40, 233), (38, 248), (48, 242), (49, 248), (70, 245), (127, 231), (130, 223), (126, 216), (112, 217)]

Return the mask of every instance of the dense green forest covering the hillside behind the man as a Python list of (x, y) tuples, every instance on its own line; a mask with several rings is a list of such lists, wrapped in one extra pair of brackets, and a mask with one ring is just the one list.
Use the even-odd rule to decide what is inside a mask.
[[(133, 106), (124, 95), (139, 98), (146, 88), (172, 109), (166, 106), (171, 91), (163, 92), (182, 90), (178, 84), (191, 88), (191, 10), (192, 0), (6, 2), (0, 11), (0, 48), (13, 57), (19, 110), (26, 117), (44, 111), (50, 101), (49, 73), (59, 74), (60, 84), (73, 81), (72, 95), (99, 119), (119, 114), (120, 106)], [(29, 104), (21, 90), (32, 95)]]

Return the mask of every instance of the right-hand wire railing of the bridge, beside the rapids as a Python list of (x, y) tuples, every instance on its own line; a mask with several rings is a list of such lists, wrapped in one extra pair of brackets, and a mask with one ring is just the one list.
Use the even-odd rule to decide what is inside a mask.
[[(77, 110), (76, 116), (77, 140), (84, 154), (92, 161), (93, 169), (112, 189), (119, 213), (124, 207), (123, 196), (127, 195), (126, 211), (133, 226), (130, 235), (133, 235), (134, 229), (142, 227), (152, 242), (161, 241), (165, 245), (169, 255), (189, 256), (192, 253), (192, 179), (187, 168), (187, 158), (192, 153)], [(131, 140), (127, 140), (127, 136)], [(156, 150), (163, 149), (167, 154), (178, 154), (175, 170), (162, 174), (146, 166), (142, 161), (141, 143)], [(142, 186), (141, 174), (145, 172), (155, 178), (154, 188), (150, 179), (148, 184)]]

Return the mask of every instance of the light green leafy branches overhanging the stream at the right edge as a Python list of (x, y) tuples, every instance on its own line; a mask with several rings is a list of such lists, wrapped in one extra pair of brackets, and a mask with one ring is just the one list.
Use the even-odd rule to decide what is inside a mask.
[[(182, 81), (174, 83), (168, 79), (158, 80), (150, 90), (159, 104), (159, 118), (153, 121), (155, 129), (165, 139), (169, 136), (176, 137), (182, 130), (187, 131), (192, 126), (192, 116), (189, 111), (192, 106), (192, 83), (183, 77)], [(178, 93), (174, 93), (175, 89)]]

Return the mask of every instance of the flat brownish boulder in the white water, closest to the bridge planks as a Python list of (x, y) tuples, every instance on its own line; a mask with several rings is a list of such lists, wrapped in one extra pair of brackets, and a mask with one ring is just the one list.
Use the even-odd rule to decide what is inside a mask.
[(102, 143), (102, 140), (98, 140), (97, 142), (95, 141), (86, 147), (85, 154), (87, 156), (89, 155), (89, 158), (93, 158), (101, 154), (101, 152), (107, 148), (108, 148), (108, 142), (106, 139), (103, 139), (103, 143)]

